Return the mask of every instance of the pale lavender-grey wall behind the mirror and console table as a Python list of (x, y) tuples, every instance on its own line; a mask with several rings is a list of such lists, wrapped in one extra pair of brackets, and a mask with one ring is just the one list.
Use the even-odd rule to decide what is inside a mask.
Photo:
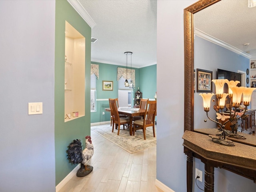
[[(157, 2), (157, 150), (156, 179), (176, 192), (186, 191), (184, 133), (184, 14), (196, 0), (158, 0)], [(204, 172), (196, 159), (194, 167)], [(214, 169), (217, 192), (253, 192), (252, 180)], [(194, 192), (201, 191), (195, 183)], [(203, 188), (203, 182), (199, 186)]]

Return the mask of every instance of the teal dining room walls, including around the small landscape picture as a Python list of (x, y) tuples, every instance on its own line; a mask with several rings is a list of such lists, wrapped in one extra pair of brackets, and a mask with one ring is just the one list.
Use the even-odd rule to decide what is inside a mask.
[[(91, 112), (91, 123), (103, 122), (109, 120), (107, 114), (102, 115), (102, 112), (105, 112), (105, 108), (109, 107), (108, 98), (118, 98), (117, 68), (124, 66), (97, 62), (91, 63), (99, 65), (99, 79), (96, 85), (96, 112)], [(144, 98), (154, 98), (156, 93), (156, 65), (133, 69), (135, 69), (136, 80), (136, 88), (133, 89), (134, 93), (139, 87), (140, 91), (145, 91), (145, 94), (143, 92)], [(113, 91), (102, 91), (102, 80), (113, 81)], [(148, 86), (148, 84), (150, 84), (150, 86)]]

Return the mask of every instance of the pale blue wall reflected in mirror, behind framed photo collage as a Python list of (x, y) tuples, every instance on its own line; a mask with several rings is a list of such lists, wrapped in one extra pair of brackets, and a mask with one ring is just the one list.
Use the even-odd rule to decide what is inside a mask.
[[(216, 79), (217, 69), (228, 70), (232, 72), (244, 71), (250, 66), (250, 60), (235, 52), (232, 52), (222, 46), (214, 44), (198, 36), (194, 40), (194, 68), (212, 71), (212, 78)], [(246, 78), (250, 78), (249, 75)], [(249, 84), (246, 84), (249, 86)], [(215, 85), (213, 84), (213, 92), (215, 92)], [(194, 94), (194, 127), (195, 128), (213, 128), (216, 123), (208, 120), (206, 112), (203, 110), (202, 97), (200, 92)], [(214, 118), (216, 116), (215, 110), (210, 109), (209, 116)]]

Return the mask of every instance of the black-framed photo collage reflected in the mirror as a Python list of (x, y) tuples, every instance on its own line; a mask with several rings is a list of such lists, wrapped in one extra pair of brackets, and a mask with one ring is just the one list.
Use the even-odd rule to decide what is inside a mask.
[(196, 69), (196, 92), (212, 92), (212, 71)]

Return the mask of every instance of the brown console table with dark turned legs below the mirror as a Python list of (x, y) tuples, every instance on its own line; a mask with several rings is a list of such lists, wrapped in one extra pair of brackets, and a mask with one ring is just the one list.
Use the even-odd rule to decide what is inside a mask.
[(204, 191), (214, 192), (214, 167), (224, 168), (256, 183), (256, 148), (235, 143), (224, 146), (212, 141), (208, 135), (186, 130), (184, 153), (187, 155), (187, 192), (192, 192), (193, 157), (204, 163)]

